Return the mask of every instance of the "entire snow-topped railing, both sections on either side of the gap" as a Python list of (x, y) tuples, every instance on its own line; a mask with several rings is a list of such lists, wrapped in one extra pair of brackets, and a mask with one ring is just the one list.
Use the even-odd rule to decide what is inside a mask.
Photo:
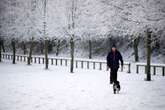
[[(11, 60), (13, 55), (10, 53), (2, 53), (3, 59)], [(16, 54), (16, 60), (21, 62), (26, 62), (28, 59), (27, 55), (19, 55)], [(45, 58), (43, 56), (32, 56), (31, 58), (32, 63), (37, 64), (44, 64)], [(49, 57), (48, 62), (50, 65), (56, 66), (69, 66), (70, 65), (70, 58), (63, 58), (63, 57)], [(96, 69), (96, 70), (108, 70), (106, 61), (103, 60), (91, 60), (91, 59), (75, 59), (74, 60), (74, 67), (75, 68), (82, 68), (82, 69)], [(141, 68), (145, 68), (146, 73), (146, 64), (145, 63), (135, 63), (136, 65), (136, 73), (139, 74)], [(165, 64), (151, 64), (151, 69), (153, 75), (160, 73), (157, 69), (161, 69), (162, 76), (165, 76)], [(131, 63), (124, 62), (124, 70), (120, 68), (121, 71), (126, 71), (131, 73)]]

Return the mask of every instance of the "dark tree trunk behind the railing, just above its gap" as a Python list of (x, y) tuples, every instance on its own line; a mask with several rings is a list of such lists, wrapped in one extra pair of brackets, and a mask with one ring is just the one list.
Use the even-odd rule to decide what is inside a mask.
[(135, 38), (133, 41), (135, 62), (139, 61), (138, 45), (139, 45), (139, 37)]

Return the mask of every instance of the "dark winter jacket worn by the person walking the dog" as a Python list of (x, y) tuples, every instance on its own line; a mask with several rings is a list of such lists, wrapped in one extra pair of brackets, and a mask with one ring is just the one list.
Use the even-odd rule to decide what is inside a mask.
[(107, 56), (107, 66), (109, 68), (119, 68), (119, 60), (121, 65), (123, 65), (123, 58), (118, 50), (114, 52), (109, 52)]

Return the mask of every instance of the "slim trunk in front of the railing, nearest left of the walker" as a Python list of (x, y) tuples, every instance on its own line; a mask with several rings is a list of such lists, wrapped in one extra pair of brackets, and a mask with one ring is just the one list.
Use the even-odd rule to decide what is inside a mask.
[(73, 41), (73, 38), (71, 38), (71, 40), (70, 40), (70, 47), (71, 47), (71, 52), (70, 52), (71, 53), (70, 72), (73, 73), (73, 68), (74, 68), (74, 41)]

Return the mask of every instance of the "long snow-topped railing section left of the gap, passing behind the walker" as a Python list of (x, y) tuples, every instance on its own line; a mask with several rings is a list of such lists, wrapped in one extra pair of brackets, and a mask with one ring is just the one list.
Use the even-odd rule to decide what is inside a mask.
[[(2, 53), (2, 58), (11, 60), (13, 58), (13, 55), (9, 54), (9, 53)], [(28, 59), (27, 55), (16, 54), (16, 60), (17, 61), (26, 62), (27, 59)], [(32, 56), (31, 62), (32, 63), (38, 63), (38, 64), (44, 64), (45, 58), (43, 56)], [(70, 65), (70, 58), (49, 57), (48, 62), (50, 65), (69, 66)], [(108, 70), (106, 61), (102, 61), (102, 60), (75, 59), (74, 62), (75, 62), (74, 63), (75, 68)], [(131, 73), (131, 63), (124, 62), (124, 70), (122, 70), (122, 68), (120, 70)]]

